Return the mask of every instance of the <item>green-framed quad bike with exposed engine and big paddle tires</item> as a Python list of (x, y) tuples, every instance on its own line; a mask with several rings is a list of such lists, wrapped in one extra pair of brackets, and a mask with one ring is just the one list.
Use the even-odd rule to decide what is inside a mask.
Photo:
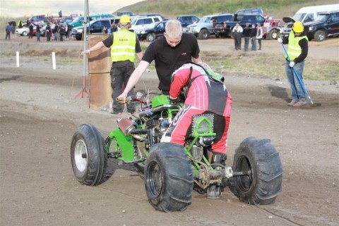
[(194, 189), (208, 198), (218, 198), (231, 179), (241, 201), (254, 205), (275, 202), (282, 189), (283, 168), (269, 139), (244, 139), (235, 150), (233, 167), (210, 163), (213, 115), (196, 115), (191, 135), (182, 146), (160, 142), (182, 104), (154, 92), (138, 92), (129, 101), (140, 103), (138, 113), (117, 120), (117, 128), (106, 139), (90, 124), (81, 125), (73, 134), (71, 163), (81, 184), (100, 184), (107, 158), (116, 158), (135, 165), (148, 200), (158, 211), (184, 211)]

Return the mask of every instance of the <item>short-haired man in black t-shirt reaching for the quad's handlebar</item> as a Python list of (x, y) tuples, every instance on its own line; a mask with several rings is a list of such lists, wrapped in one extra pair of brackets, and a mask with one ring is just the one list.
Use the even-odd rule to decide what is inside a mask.
[(133, 89), (152, 61), (155, 61), (155, 69), (159, 78), (158, 88), (162, 91), (162, 94), (168, 94), (174, 70), (177, 70), (186, 61), (201, 62), (199, 53), (200, 49), (196, 37), (192, 34), (183, 34), (182, 24), (179, 20), (168, 20), (164, 36), (156, 39), (148, 46), (119, 99), (126, 99), (129, 90)]

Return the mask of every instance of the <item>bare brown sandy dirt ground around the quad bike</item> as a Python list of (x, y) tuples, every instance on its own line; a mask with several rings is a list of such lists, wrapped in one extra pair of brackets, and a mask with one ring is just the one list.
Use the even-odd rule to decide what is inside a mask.
[[(150, 206), (130, 165), (109, 159), (106, 181), (97, 187), (75, 180), (70, 144), (77, 127), (91, 123), (105, 137), (118, 116), (88, 108), (87, 97), (75, 99), (82, 59), (74, 52), (81, 42), (44, 40), (0, 39), (0, 225), (339, 225), (338, 85), (305, 80), (316, 104), (291, 108), (286, 79), (225, 75), (233, 97), (227, 165), (246, 137), (271, 139), (283, 163), (283, 193), (272, 205), (249, 206), (228, 188), (219, 200), (194, 192), (186, 211), (162, 213)], [(231, 39), (199, 43), (206, 51), (232, 51)], [(279, 48), (276, 41), (264, 45), (263, 56)], [(311, 45), (309, 61), (338, 62), (338, 38)], [(35, 57), (51, 51), (79, 63), (52, 70), (50, 61)], [(156, 89), (153, 70), (136, 88), (143, 82)]]

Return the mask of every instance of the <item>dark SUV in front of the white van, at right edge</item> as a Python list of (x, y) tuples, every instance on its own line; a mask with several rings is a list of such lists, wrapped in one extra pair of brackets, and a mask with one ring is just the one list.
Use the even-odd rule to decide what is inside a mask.
[(339, 11), (319, 13), (316, 20), (304, 23), (309, 40), (322, 42), (327, 37), (339, 35)]

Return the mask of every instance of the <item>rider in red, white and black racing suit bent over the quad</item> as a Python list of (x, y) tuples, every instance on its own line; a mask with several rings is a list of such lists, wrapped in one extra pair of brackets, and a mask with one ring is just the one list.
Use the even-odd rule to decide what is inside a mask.
[[(201, 65), (209, 68), (204, 63)], [(210, 153), (213, 153), (213, 156), (209, 155), (209, 161), (225, 165), (232, 97), (222, 82), (223, 78), (215, 80), (201, 65), (186, 63), (172, 74), (169, 99), (177, 100), (183, 87), (187, 87), (188, 90), (184, 106), (169, 125), (161, 142), (184, 145), (185, 138), (191, 133), (193, 116), (212, 113), (216, 136), (210, 147)]]

